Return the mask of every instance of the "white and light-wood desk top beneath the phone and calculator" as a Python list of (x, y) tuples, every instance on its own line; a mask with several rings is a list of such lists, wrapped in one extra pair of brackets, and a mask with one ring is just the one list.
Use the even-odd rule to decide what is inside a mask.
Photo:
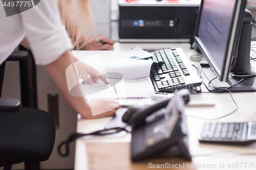
[[(182, 47), (187, 57), (196, 53), (194, 50), (190, 50), (188, 43), (116, 43), (114, 50), (129, 50), (129, 47), (133, 48), (136, 45), (140, 45), (142, 48)], [(254, 63), (252, 64), (252, 66), (256, 68), (256, 65)], [(211, 94), (211, 96), (215, 100), (216, 106), (187, 107), (185, 109), (185, 114), (188, 116), (189, 150), (190, 154), (193, 156), (192, 162), (187, 162), (182, 158), (155, 158), (132, 164), (130, 161), (131, 134), (121, 132), (121, 134), (113, 137), (77, 139), (75, 169), (149, 169), (148, 163), (187, 163), (192, 167), (195, 167), (197, 164), (197, 168), (178, 167), (177, 169), (229, 169), (227, 167), (228, 163), (230, 163), (230, 166), (232, 163), (254, 163), (256, 166), (256, 143), (245, 147), (234, 147), (230, 145), (202, 144), (198, 142), (204, 120), (195, 117), (208, 119), (217, 118), (236, 109), (236, 105), (232, 102), (229, 93), (214, 93)], [(247, 120), (256, 120), (256, 105), (254, 104), (255, 100), (253, 100), (256, 99), (256, 93), (232, 93), (232, 96), (238, 105), (238, 110), (218, 121), (246, 122)], [(148, 100), (150, 99), (144, 102), (149, 102)], [(101, 130), (110, 119), (111, 117), (86, 120), (78, 117), (77, 131), (80, 133), (89, 133), (95, 130)], [(223, 165), (223, 163), (225, 168), (220, 168), (220, 165)], [(198, 165), (200, 165), (201, 168), (199, 168)], [(204, 165), (206, 168), (203, 168)], [(239, 168), (235, 169), (250, 168), (240, 168), (239, 166)]]

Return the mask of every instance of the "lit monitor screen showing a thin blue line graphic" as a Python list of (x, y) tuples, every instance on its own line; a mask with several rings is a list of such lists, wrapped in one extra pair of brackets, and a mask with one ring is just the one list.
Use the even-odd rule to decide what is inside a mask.
[(235, 0), (204, 0), (198, 36), (216, 65), (222, 68)]

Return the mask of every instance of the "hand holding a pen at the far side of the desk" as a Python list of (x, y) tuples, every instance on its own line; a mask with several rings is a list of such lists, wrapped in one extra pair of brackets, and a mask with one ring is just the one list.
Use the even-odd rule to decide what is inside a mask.
[[(106, 42), (105, 44), (100, 43), (96, 39)], [(88, 43), (82, 47), (83, 50), (113, 50), (115, 41), (111, 38), (103, 35), (92, 37), (88, 39)]]

